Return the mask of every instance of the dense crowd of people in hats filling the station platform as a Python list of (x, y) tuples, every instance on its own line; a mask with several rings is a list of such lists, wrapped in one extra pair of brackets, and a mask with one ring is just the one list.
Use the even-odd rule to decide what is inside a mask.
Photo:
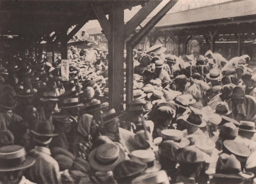
[(71, 46), (68, 80), (58, 54), (1, 51), (0, 183), (255, 184), (250, 57), (133, 53), (134, 100), (119, 113), (107, 50)]

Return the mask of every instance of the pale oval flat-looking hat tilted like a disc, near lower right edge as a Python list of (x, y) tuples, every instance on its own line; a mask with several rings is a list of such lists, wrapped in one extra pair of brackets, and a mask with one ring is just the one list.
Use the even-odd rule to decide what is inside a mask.
[[(234, 154), (235, 156), (248, 157), (251, 154), (250, 149), (247, 146), (234, 140), (225, 140), (223, 142), (223, 146), (226, 148), (226, 151)], [(223, 151), (226, 152), (224, 149)]]

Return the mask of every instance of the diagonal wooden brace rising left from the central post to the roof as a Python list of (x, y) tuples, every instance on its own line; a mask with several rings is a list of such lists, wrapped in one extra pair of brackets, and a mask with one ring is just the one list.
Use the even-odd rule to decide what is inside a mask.
[(102, 27), (102, 30), (108, 40), (110, 40), (111, 32), (110, 32), (110, 23), (105, 16), (104, 11), (101, 8), (95, 8), (93, 4), (91, 4), (91, 7), (93, 8), (93, 11), (99, 21), (100, 26)]

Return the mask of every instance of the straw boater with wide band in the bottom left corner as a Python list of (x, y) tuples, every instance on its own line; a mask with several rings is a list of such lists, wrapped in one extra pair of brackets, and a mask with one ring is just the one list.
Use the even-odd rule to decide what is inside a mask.
[(35, 159), (26, 156), (23, 146), (10, 145), (0, 148), (1, 172), (23, 170), (35, 164)]

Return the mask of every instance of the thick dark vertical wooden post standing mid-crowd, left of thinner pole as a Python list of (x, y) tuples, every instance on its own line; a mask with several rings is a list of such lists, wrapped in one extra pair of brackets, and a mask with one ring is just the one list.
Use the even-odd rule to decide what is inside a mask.
[(124, 94), (124, 10), (115, 8), (109, 14), (110, 38), (108, 53), (109, 103), (116, 112), (121, 112)]

